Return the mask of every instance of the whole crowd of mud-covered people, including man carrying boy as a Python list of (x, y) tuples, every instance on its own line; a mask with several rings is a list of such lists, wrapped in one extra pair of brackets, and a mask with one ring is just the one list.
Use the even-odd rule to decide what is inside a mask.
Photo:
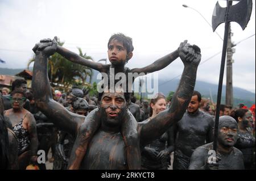
[[(255, 169), (255, 106), (220, 106), (217, 151), (213, 162), (215, 106), (194, 90), (200, 49), (184, 41), (155, 66), (123, 69), (132, 57), (131, 39), (123, 34), (110, 37), (111, 65), (86, 62), (44, 39), (36, 53), (32, 90), (16, 79), (1, 89), (0, 169), (45, 170), (38, 150), (46, 153), (54, 170), (61, 169)], [(171, 100), (162, 93), (137, 100), (122, 87), (105, 89), (98, 96), (73, 86), (67, 92), (49, 85), (47, 57), (58, 52), (71, 61), (109, 73), (109, 68), (150, 73), (177, 57), (184, 70)], [(118, 62), (119, 61), (119, 62)], [(121, 63), (120, 63), (121, 62)], [(95, 64), (95, 65), (94, 65)], [(158, 66), (156, 66), (158, 65)], [(119, 81), (119, 80), (117, 80)], [(48, 151), (52, 158), (48, 158)], [(171, 161), (170, 155), (174, 155)]]

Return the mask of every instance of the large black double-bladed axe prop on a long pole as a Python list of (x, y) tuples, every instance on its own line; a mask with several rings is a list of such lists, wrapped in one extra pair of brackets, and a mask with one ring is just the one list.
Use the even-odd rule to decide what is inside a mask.
[(212, 15), (212, 29), (213, 32), (221, 24), (225, 23), (225, 32), (224, 40), (222, 47), (222, 56), (221, 56), (221, 68), (220, 68), (220, 78), (218, 81), (218, 95), (217, 95), (217, 107), (216, 107), (216, 117), (214, 125), (214, 141), (213, 141), (213, 150), (217, 150), (217, 140), (218, 140), (218, 122), (220, 118), (220, 103), (221, 103), (221, 91), (223, 83), (223, 75), (225, 68), (225, 58), (226, 58), (226, 48), (228, 44), (228, 32), (230, 22), (237, 22), (242, 27), (242, 30), (245, 30), (251, 16), (251, 10), (253, 7), (252, 0), (241, 0), (236, 5), (232, 6), (231, 0), (227, 1), (227, 7), (221, 7), (219, 3), (216, 3), (216, 6), (213, 10)]

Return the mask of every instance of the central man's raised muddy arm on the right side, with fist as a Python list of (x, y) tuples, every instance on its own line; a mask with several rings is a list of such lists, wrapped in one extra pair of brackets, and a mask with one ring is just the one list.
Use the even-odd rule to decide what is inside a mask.
[[(193, 45), (195, 46), (195, 45)], [(191, 45), (179, 48), (179, 55), (184, 64), (183, 74), (181, 75), (179, 86), (172, 97), (170, 107), (160, 112), (154, 119), (147, 123), (138, 123), (139, 132), (141, 133), (141, 145), (160, 137), (167, 131), (170, 126), (179, 121), (188, 107), (196, 82), (197, 66), (201, 60), (200, 49), (198, 48), (195, 56), (191, 56), (187, 52), (191, 51)]]

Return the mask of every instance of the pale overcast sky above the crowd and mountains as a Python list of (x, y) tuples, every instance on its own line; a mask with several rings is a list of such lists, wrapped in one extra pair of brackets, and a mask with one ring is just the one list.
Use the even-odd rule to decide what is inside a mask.
[[(107, 43), (113, 33), (133, 38), (134, 56), (129, 68), (148, 65), (174, 51), (181, 41), (201, 48), (202, 60), (221, 52), (222, 40), (195, 10), (210, 23), (216, 0), (93, 0), (39, 1), (0, 0), (0, 68), (26, 68), (32, 48), (43, 38), (60, 37), (64, 47), (78, 52), (82, 48), (95, 61), (107, 58)], [(219, 1), (225, 6), (225, 1)], [(233, 86), (255, 92), (255, 0), (247, 28), (231, 23), (232, 41), (239, 43), (233, 54)], [(224, 24), (216, 32), (224, 36)], [(108, 61), (109, 62), (109, 61)], [(199, 66), (197, 79), (218, 83), (221, 53)], [(178, 58), (159, 71), (166, 81), (183, 70)], [(1, 73), (0, 73), (1, 74)], [(224, 84), (226, 74), (224, 75)]]

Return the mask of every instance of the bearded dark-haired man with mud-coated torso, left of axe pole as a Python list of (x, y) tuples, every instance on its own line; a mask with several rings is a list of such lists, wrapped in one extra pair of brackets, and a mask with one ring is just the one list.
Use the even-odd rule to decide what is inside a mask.
[(182, 119), (174, 125), (174, 170), (187, 170), (193, 151), (213, 139), (213, 117), (199, 110), (201, 94), (193, 91)]

